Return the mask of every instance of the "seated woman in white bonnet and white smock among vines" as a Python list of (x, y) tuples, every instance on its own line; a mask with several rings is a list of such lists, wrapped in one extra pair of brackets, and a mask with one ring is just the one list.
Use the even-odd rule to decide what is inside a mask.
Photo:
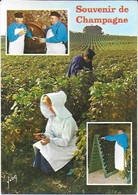
[(77, 148), (76, 130), (77, 125), (72, 114), (64, 106), (66, 94), (63, 91), (48, 93), (40, 100), (42, 114), (49, 118), (43, 139), (33, 147), (35, 151), (34, 167), (41, 167), (42, 172), (58, 171), (71, 159)]

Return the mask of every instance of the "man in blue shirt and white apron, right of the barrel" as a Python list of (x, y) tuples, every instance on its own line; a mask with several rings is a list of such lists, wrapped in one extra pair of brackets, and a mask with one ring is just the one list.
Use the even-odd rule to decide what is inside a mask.
[(68, 33), (66, 26), (59, 20), (60, 14), (58, 12), (51, 12), (50, 27), (43, 25), (42, 28), (46, 31), (46, 38), (39, 38), (39, 43), (45, 43), (47, 51), (46, 54), (65, 54), (65, 44), (68, 41)]

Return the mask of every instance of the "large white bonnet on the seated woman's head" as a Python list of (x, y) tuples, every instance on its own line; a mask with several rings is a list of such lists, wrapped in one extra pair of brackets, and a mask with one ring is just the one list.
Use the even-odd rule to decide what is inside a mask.
[(48, 106), (43, 102), (44, 96), (48, 96), (52, 102), (52, 108), (55, 111), (56, 116), (59, 118), (68, 118), (72, 116), (72, 114), (67, 110), (64, 106), (67, 96), (64, 91), (54, 92), (54, 93), (47, 93), (42, 95), (40, 100), (40, 110), (42, 114), (49, 118), (50, 116), (54, 115), (48, 108)]

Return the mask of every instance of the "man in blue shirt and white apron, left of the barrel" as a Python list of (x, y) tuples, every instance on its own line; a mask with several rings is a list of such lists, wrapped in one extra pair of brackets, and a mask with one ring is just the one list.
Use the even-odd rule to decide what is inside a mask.
[(15, 13), (15, 22), (7, 30), (9, 41), (9, 54), (23, 54), (25, 35), (32, 38), (31, 32), (23, 24), (23, 13)]

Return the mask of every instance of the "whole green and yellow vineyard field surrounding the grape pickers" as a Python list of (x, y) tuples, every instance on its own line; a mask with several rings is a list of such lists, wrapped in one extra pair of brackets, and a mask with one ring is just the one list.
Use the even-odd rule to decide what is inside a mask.
[[(2, 192), (3, 193), (126, 193), (136, 192), (136, 89), (137, 38), (115, 35), (70, 33), (69, 56), (9, 56), (2, 37)], [(93, 75), (82, 70), (68, 78), (74, 55), (93, 48)], [(33, 133), (44, 131), (46, 119), (40, 112), (43, 93), (63, 90), (66, 107), (79, 126), (74, 175), (65, 169), (41, 175), (34, 171)], [(128, 121), (133, 123), (133, 186), (86, 185), (86, 122)], [(18, 185), (7, 177), (17, 174)], [(72, 183), (74, 185), (72, 185)], [(81, 185), (80, 185), (81, 183)]]

